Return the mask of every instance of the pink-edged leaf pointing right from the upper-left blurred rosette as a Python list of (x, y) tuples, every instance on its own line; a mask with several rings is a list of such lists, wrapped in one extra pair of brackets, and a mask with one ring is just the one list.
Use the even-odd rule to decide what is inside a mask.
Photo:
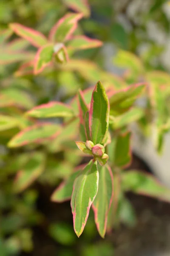
[(77, 35), (72, 38), (68, 43), (68, 49), (79, 50), (79, 49), (91, 49), (101, 47), (102, 41), (97, 39), (88, 38), (85, 35)]

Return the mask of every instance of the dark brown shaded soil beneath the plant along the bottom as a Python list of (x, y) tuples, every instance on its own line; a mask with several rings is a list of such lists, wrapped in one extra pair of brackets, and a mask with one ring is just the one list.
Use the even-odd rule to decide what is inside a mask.
[[(152, 170), (141, 158), (133, 154), (133, 161), (128, 169), (138, 169), (152, 173)], [(63, 246), (48, 235), (48, 225), (55, 221), (73, 223), (70, 202), (56, 204), (50, 201), (54, 189), (48, 186), (37, 185), (40, 196), (37, 209), (45, 216), (45, 221), (33, 228), (34, 251), (21, 253), (20, 256), (60, 256)], [(168, 256), (170, 255), (170, 204), (153, 198), (127, 193), (137, 216), (135, 227), (121, 225), (119, 229), (106, 236), (105, 241), (113, 246), (113, 254), (103, 256)], [(82, 240), (81, 240), (82, 241)], [(96, 236), (91, 244), (103, 241)], [(73, 247), (67, 247), (81, 255), (80, 240)], [(69, 254), (67, 254), (69, 255)], [(93, 255), (91, 255), (93, 256)]]

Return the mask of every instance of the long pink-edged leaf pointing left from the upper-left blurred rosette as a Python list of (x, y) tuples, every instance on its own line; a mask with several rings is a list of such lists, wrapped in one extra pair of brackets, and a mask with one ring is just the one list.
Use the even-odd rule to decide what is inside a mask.
[(34, 29), (28, 28), (19, 23), (11, 23), (9, 26), (17, 35), (25, 38), (35, 47), (39, 48), (48, 43), (45, 36)]

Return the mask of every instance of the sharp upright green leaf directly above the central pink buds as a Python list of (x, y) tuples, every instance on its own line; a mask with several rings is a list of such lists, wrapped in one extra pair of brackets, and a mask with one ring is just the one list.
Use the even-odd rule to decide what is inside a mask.
[(109, 121), (109, 102), (105, 93), (105, 88), (102, 83), (98, 81), (94, 88), (91, 107), (89, 111), (89, 131), (91, 141), (96, 145), (102, 144), (108, 132)]

